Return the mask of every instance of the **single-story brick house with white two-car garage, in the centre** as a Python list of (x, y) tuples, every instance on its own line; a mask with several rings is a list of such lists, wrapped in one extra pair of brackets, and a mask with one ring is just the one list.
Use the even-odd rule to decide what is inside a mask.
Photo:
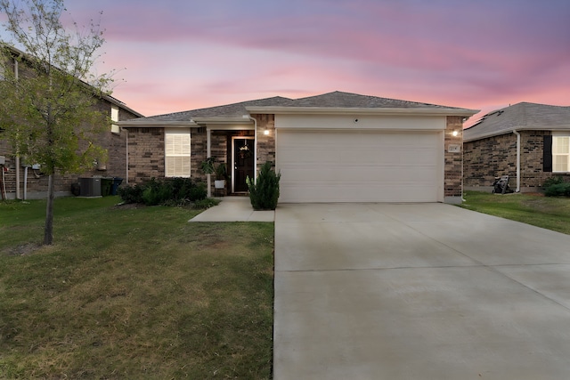
[[(211, 181), (215, 157), (229, 194), (247, 192), (266, 161), (281, 171), (280, 202), (461, 200), (462, 125), (477, 110), (355, 93), (273, 97), (120, 122), (128, 182)], [(243, 153), (248, 152), (244, 155)]]

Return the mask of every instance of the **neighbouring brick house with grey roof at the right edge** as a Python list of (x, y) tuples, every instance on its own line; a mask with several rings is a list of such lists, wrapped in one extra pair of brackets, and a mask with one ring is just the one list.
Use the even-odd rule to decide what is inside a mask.
[(464, 186), (490, 190), (509, 175), (517, 191), (537, 191), (553, 175), (570, 178), (570, 107), (522, 102), (463, 131)]

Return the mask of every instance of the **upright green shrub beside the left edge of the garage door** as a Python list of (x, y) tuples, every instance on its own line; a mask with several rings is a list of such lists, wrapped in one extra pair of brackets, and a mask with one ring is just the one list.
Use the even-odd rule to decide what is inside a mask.
[(249, 200), (254, 210), (274, 210), (277, 207), (281, 173), (276, 174), (272, 166), (269, 161), (261, 166), (256, 183), (247, 178)]

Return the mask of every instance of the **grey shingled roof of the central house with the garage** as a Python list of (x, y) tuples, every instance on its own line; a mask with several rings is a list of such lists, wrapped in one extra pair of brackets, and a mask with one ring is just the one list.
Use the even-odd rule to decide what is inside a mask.
[[(323, 93), (322, 95), (309, 96), (300, 99), (289, 99), (281, 96), (273, 98), (259, 99), (255, 101), (242, 101), (239, 103), (226, 104), (223, 106), (210, 107), (205, 109), (192, 109), (183, 112), (175, 112), (165, 115), (157, 115), (153, 117), (141, 117), (126, 122), (120, 122), (123, 126), (137, 125), (183, 125), (194, 121), (208, 119), (239, 119), (251, 113), (275, 111), (309, 111), (314, 109), (320, 110), (374, 110), (374, 109), (392, 109), (392, 110), (425, 110), (438, 113), (449, 112), (450, 114), (458, 114), (471, 116), (477, 111), (472, 109), (459, 109), (454, 107), (438, 106), (435, 104), (419, 103), (415, 101), (399, 101), (395, 99), (379, 98), (378, 96), (360, 95), (357, 93), (343, 93), (335, 91), (333, 93)], [(248, 120), (245, 118), (244, 120)]]

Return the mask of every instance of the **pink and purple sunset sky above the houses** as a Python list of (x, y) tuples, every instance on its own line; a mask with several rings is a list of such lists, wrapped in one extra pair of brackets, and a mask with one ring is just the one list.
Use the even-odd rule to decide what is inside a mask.
[(567, 0), (66, 6), (80, 25), (101, 20), (98, 70), (117, 69), (113, 96), (145, 116), (337, 90), (484, 112), (520, 101), (570, 106)]

